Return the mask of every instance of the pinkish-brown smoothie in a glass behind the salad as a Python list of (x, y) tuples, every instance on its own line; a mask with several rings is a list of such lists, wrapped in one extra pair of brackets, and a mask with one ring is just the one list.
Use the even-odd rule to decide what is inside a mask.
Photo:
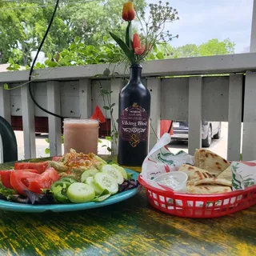
[(98, 154), (98, 121), (91, 119), (64, 119), (64, 154), (70, 149), (78, 153)]

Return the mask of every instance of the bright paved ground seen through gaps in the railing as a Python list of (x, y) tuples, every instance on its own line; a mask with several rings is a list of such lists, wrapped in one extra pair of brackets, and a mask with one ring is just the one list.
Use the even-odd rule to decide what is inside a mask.
[[(223, 158), (226, 158), (226, 149), (227, 149), (227, 129), (228, 123), (222, 122), (222, 137), (218, 140), (214, 140), (212, 145), (210, 146), (210, 150), (214, 151), (214, 153), (221, 155)], [(21, 131), (16, 131), (16, 138), (18, 143), (18, 159), (24, 159), (24, 142), (23, 142), (23, 133)], [(40, 135), (36, 138), (36, 154), (37, 157), (46, 157), (49, 154), (45, 153), (46, 147), (49, 144), (46, 142), (46, 135)], [(108, 154), (106, 147), (102, 147), (102, 145), (109, 143), (106, 140), (102, 140), (102, 143), (98, 145), (98, 154)], [(179, 150), (184, 150), (187, 152), (187, 142), (178, 142), (173, 141), (170, 142), (168, 146), (170, 151), (173, 153), (178, 152)]]

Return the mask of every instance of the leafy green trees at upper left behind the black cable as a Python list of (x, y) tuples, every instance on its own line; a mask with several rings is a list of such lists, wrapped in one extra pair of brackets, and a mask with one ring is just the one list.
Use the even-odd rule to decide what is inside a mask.
[[(122, 3), (126, 0), (99, 0), (60, 2), (53, 25), (42, 48), (54, 53), (68, 48), (78, 36), (86, 45), (99, 46), (109, 30), (124, 34)], [(26, 0), (25, 2), (0, 2), (0, 52), (2, 62), (15, 58), (20, 65), (30, 61), (30, 52), (37, 50), (54, 11), (54, 0)], [(41, 6), (41, 7), (38, 7)], [(145, 0), (136, 1), (136, 8), (143, 10)], [(22, 8), (24, 7), (24, 8)], [(20, 9), (22, 8), (22, 9)]]

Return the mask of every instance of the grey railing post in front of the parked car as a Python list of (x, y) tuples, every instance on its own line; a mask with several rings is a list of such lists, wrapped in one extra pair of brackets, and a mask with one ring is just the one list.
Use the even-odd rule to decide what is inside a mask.
[(202, 77), (189, 78), (189, 154), (202, 146)]

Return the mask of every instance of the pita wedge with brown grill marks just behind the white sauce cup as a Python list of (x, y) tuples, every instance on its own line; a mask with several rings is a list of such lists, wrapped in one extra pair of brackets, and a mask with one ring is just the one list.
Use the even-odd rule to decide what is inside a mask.
[(188, 182), (194, 184), (194, 182), (204, 180), (206, 178), (215, 178), (216, 176), (210, 174), (206, 170), (202, 170), (195, 166), (190, 166), (183, 164), (182, 167), (178, 170), (186, 173), (188, 176)]

